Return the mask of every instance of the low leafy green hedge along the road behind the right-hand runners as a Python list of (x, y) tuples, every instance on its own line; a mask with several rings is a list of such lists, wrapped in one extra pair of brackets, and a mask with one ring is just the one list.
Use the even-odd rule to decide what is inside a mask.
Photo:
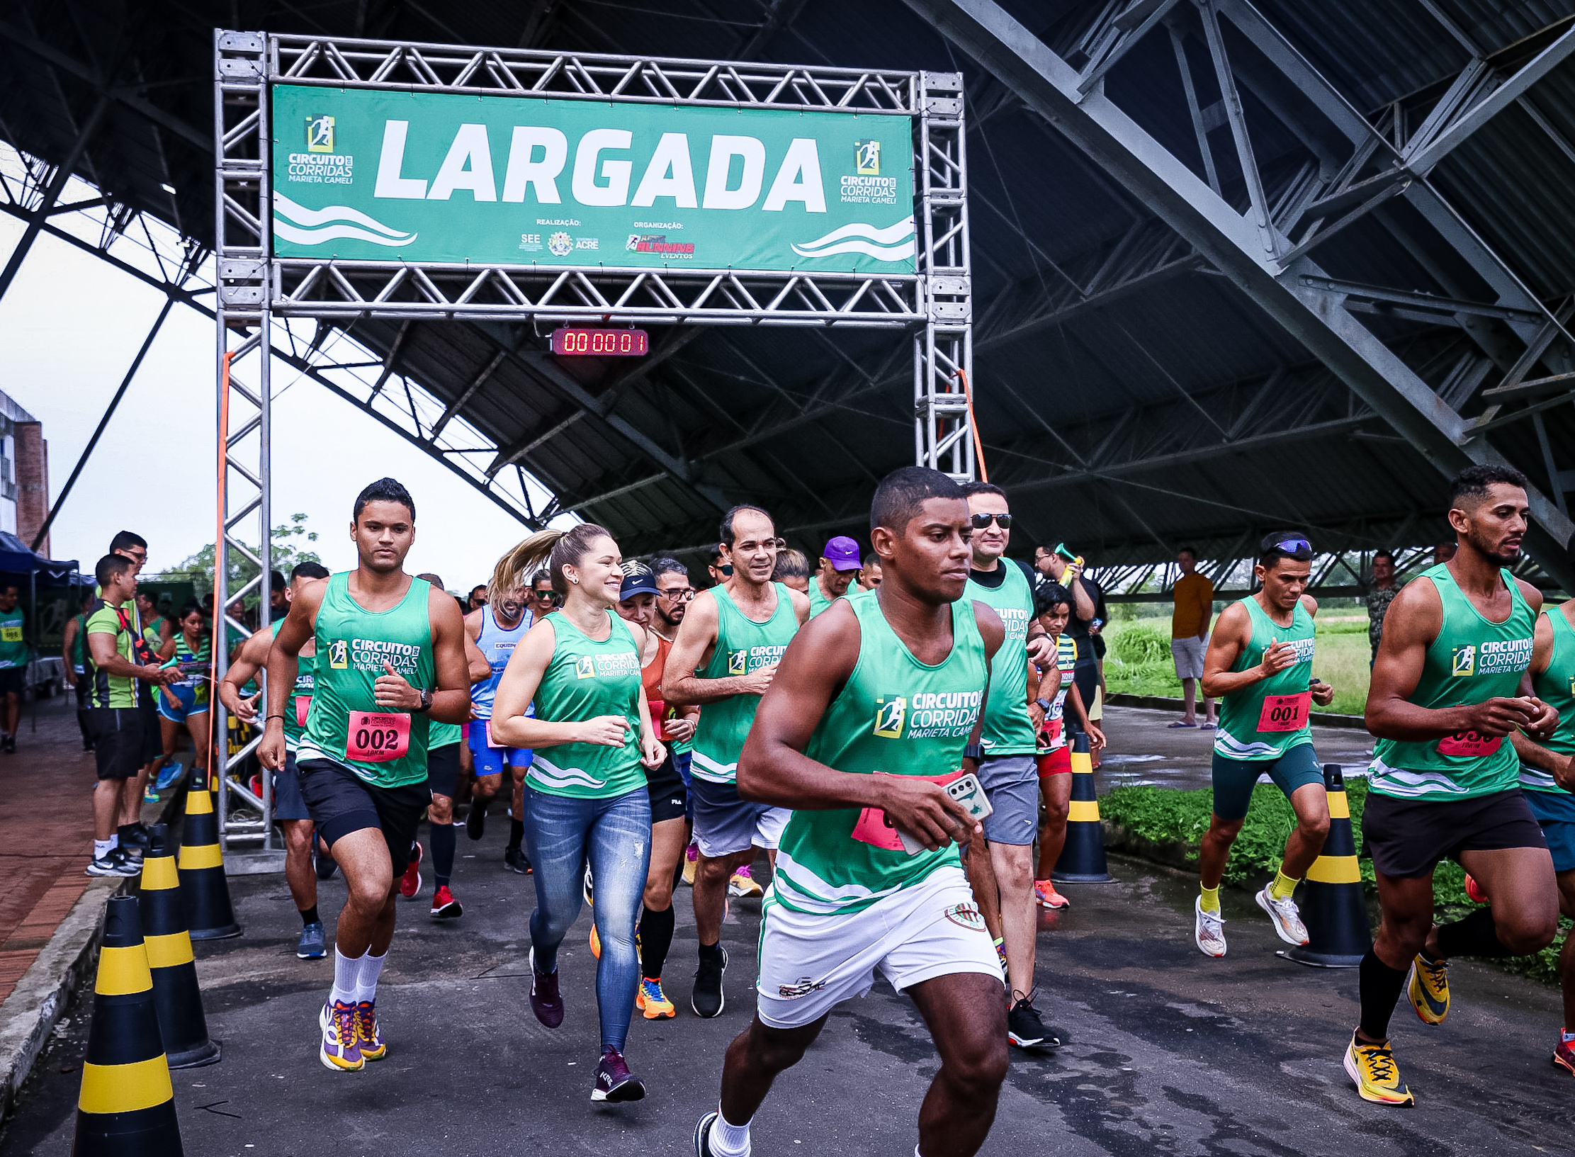
[[(1156, 844), (1181, 842), (1191, 852), (1191, 859), (1197, 858), (1197, 847), (1208, 831), (1210, 814), (1213, 812), (1213, 797), (1210, 789), (1194, 792), (1177, 792), (1167, 787), (1132, 786), (1117, 787), (1099, 798), (1099, 815), (1120, 823), (1134, 834)], [(1351, 779), (1345, 784), (1345, 798), (1351, 808), (1351, 830), (1356, 836), (1356, 852), (1362, 850), (1362, 809), (1367, 804), (1367, 781)], [(1247, 820), (1241, 825), (1241, 834), (1230, 848), (1230, 861), (1225, 864), (1225, 883), (1241, 885), (1263, 875), (1273, 875), (1285, 852), (1285, 841), (1296, 826), (1296, 812), (1290, 801), (1280, 795), (1273, 784), (1258, 784), (1252, 789), (1252, 806)], [(1373, 880), (1373, 861), (1362, 858), (1358, 861), (1362, 874), (1362, 888), (1369, 897), (1377, 896)], [(1460, 919), (1476, 905), (1466, 896), (1466, 874), (1452, 859), (1444, 859), (1433, 872), (1433, 904), (1440, 921)], [(1570, 921), (1559, 921), (1558, 938), (1534, 956), (1503, 960), (1507, 971), (1531, 976), (1548, 984), (1558, 984), (1559, 948), (1570, 932)]]

